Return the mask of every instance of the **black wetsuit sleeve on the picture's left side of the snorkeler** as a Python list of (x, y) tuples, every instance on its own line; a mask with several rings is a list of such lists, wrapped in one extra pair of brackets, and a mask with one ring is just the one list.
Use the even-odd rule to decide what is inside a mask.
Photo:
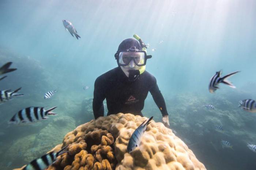
[(103, 101), (105, 100), (105, 93), (103, 89), (103, 83), (98, 77), (94, 83), (94, 92), (93, 92), (93, 114), (94, 118), (97, 119), (100, 116), (104, 116), (104, 105)]

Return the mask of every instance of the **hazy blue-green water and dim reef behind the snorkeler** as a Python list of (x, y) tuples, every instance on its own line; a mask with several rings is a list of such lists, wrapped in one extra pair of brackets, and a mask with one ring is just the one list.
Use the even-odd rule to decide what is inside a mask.
[[(65, 30), (64, 19), (81, 38)], [(208, 170), (256, 169), (256, 151), (246, 144), (256, 145), (256, 113), (237, 107), (256, 100), (255, 0), (1, 0), (0, 23), (0, 67), (17, 68), (4, 74), (0, 90), (22, 87), (24, 94), (0, 105), (0, 169), (41, 157), (94, 119), (95, 79), (117, 67), (118, 45), (134, 34), (150, 45), (146, 70), (157, 79), (176, 136), (189, 140)], [(236, 88), (221, 83), (211, 94), (210, 78), (220, 70), (241, 71), (229, 78)], [(23, 108), (54, 106), (58, 115), (47, 120), (8, 124)], [(150, 93), (142, 112), (162, 119)]]

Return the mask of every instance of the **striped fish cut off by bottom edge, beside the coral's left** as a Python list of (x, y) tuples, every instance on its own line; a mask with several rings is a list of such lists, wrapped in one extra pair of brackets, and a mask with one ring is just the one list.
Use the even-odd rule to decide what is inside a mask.
[(67, 146), (63, 147), (58, 152), (50, 152), (48, 154), (43, 155), (41, 158), (34, 159), (31, 161), (27, 166), (25, 166), (22, 170), (44, 170), (48, 166), (52, 165), (58, 156), (61, 154), (64, 154), (67, 151), (64, 151), (64, 149), (67, 148)]

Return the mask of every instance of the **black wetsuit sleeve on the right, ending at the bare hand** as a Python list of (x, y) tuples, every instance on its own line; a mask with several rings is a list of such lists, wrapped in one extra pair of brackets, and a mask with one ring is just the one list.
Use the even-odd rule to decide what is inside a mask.
[(162, 116), (168, 115), (165, 105), (165, 99), (163, 98), (163, 95), (158, 88), (157, 80), (155, 79), (155, 77), (153, 79), (153, 84), (149, 91), (155, 103), (157, 104), (157, 107), (160, 109)]

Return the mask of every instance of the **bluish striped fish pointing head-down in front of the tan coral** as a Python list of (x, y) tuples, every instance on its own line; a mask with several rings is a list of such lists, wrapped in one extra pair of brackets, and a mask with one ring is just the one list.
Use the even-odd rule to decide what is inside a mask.
[(131, 153), (137, 146), (139, 146), (141, 142), (142, 135), (147, 130), (147, 125), (150, 124), (150, 121), (153, 119), (153, 116), (148, 119), (148, 121), (143, 121), (142, 124), (139, 125), (139, 127), (133, 132), (128, 146), (127, 146), (127, 152)]

